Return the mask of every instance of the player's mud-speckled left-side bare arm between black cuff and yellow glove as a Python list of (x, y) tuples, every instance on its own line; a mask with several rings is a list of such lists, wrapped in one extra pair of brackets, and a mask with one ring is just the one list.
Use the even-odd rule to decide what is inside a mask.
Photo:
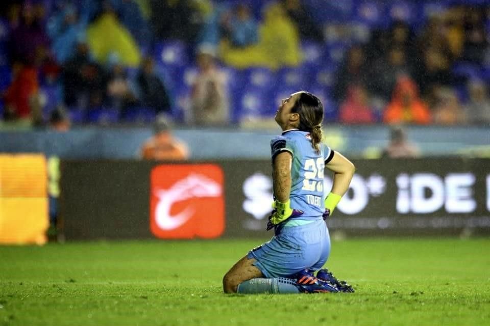
[(274, 195), (283, 203), (289, 199), (291, 191), (291, 164), (292, 156), (288, 152), (279, 153), (274, 159)]

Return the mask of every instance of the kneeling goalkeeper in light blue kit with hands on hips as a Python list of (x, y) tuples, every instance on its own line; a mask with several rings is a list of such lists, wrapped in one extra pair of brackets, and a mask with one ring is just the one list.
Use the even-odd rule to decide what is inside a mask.
[[(330, 254), (324, 219), (347, 192), (355, 171), (347, 158), (321, 143), (323, 116), (322, 102), (311, 93), (281, 101), (275, 120), (283, 131), (271, 141), (275, 201), (267, 224), (275, 236), (228, 271), (225, 293), (354, 291), (327, 269), (313, 275)], [(334, 172), (326, 198), (324, 168)]]

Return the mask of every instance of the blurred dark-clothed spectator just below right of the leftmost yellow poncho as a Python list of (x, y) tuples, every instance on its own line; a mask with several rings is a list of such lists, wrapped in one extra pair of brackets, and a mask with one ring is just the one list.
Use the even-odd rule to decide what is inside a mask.
[(138, 73), (137, 83), (140, 100), (144, 106), (152, 107), (157, 113), (171, 113), (170, 98), (160, 78), (155, 74), (152, 58), (144, 58)]

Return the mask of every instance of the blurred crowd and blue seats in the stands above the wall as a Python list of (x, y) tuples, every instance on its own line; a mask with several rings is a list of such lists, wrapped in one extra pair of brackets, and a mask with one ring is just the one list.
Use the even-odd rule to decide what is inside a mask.
[(0, 5), (0, 117), (216, 126), (309, 90), (326, 122), (490, 123), (484, 1), (30, 0)]

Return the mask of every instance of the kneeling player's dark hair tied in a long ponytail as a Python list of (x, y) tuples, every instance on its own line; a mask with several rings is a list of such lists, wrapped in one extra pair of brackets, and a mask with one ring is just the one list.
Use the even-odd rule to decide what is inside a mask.
[(291, 113), (298, 113), (300, 115), (298, 129), (310, 133), (311, 145), (316, 153), (320, 153), (324, 113), (322, 101), (315, 95), (302, 91), (300, 97), (296, 100), (295, 106), (291, 108)]

